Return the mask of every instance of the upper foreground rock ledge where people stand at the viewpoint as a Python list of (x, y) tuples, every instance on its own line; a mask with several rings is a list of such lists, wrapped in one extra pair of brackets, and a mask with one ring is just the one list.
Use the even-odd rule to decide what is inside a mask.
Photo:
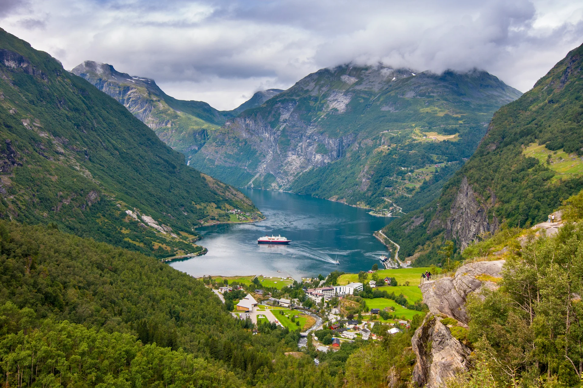
[(439, 280), (431, 280), (421, 284), (423, 302), (427, 304), (431, 314), (445, 314), (468, 325), (464, 304), (470, 293), (479, 291), (482, 287), (493, 289), (496, 283), (476, 279), (480, 275), (487, 277), (500, 277), (500, 270), (504, 260), (479, 261), (462, 265), (455, 276), (444, 277)]

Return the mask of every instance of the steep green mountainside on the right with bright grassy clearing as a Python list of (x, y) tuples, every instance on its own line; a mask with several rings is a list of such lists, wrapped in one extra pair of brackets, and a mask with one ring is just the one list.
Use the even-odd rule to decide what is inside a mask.
[(583, 188), (582, 66), (583, 45), (496, 112), (437, 201), (385, 228), (402, 257), (438, 262), (441, 239), (463, 250), (501, 225), (534, 225)]

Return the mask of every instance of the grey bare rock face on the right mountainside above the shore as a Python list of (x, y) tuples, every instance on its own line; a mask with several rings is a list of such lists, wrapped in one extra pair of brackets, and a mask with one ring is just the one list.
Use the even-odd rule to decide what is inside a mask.
[(469, 185), (468, 178), (463, 177), (446, 225), (447, 233), (459, 241), (462, 250), (479, 234), (494, 232), (498, 228), (496, 216), (491, 222), (488, 220), (488, 210), (496, 204), (496, 195), (491, 193), (490, 201), (480, 199)]

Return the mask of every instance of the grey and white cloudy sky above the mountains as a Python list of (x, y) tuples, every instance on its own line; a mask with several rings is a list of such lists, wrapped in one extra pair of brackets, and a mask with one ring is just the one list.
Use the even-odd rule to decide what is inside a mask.
[(106, 62), (233, 109), (349, 62), (479, 67), (526, 91), (583, 43), (583, 2), (0, 0), (0, 26), (65, 69)]

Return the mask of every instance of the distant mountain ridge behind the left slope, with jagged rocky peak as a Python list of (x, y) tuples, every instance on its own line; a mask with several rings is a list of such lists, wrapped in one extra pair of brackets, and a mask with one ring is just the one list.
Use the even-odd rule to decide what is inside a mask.
[(154, 80), (120, 73), (107, 63), (86, 60), (71, 70), (117, 99), (157, 136), (187, 158), (206, 142), (210, 131), (245, 109), (255, 108), (282, 90), (256, 92), (233, 111), (217, 111), (203, 101), (184, 101), (164, 93)]

